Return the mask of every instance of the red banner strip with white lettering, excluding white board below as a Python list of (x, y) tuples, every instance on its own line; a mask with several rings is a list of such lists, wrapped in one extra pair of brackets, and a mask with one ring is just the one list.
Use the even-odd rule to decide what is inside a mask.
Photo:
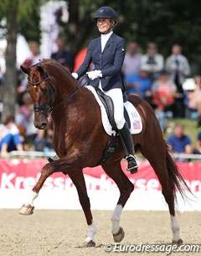
[[(47, 164), (46, 159), (2, 159), (0, 162), (0, 189), (33, 188), (39, 179), (40, 170)], [(126, 171), (126, 162), (122, 161), (121, 165), (136, 190), (161, 191), (157, 175), (147, 161), (139, 163), (139, 170), (135, 175)], [(201, 163), (178, 163), (178, 168), (191, 190), (193, 192), (201, 191)], [(88, 190), (110, 191), (116, 189), (116, 184), (106, 175), (101, 166), (85, 168), (84, 173)], [(43, 188), (66, 190), (72, 186), (73, 183), (68, 175), (55, 173), (45, 181)]]

